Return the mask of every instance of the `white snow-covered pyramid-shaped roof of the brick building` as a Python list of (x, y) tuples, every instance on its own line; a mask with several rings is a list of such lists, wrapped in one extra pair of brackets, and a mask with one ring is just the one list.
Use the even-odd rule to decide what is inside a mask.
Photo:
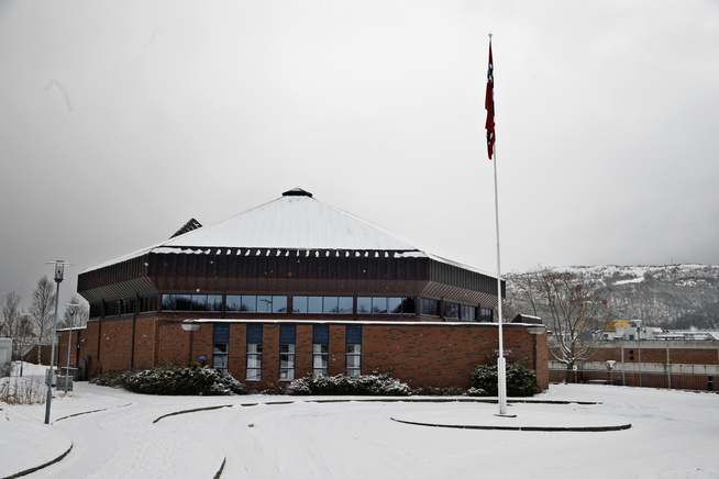
[[(429, 254), (381, 226), (318, 201), (311, 193), (299, 188), (286, 191), (281, 198), (229, 220), (173, 236), (162, 243), (88, 268), (86, 271), (151, 252), (188, 253), (188, 248), (204, 248), (207, 252), (215, 250), (212, 248), (381, 250), (392, 253), (394, 257), (431, 257), (484, 274), (476, 268)], [(264, 252), (261, 254), (264, 255)]]

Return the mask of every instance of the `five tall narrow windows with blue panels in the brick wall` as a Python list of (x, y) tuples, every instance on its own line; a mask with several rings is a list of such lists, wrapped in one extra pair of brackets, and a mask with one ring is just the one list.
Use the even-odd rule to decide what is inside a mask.
[[(212, 367), (226, 372), (230, 359), (230, 325), (215, 324), (212, 332)], [(263, 325), (247, 324), (245, 380), (262, 380)], [(279, 325), (279, 377), (280, 381), (295, 379), (296, 325)], [(312, 326), (312, 371), (327, 376), (330, 364), (330, 328), (327, 324)], [(362, 326), (345, 326), (345, 374), (362, 374)]]

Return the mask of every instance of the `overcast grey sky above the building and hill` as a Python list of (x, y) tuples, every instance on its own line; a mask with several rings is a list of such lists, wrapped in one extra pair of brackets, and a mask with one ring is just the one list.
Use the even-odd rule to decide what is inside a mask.
[(0, 0), (0, 294), (294, 187), (496, 271), (719, 263), (719, 2)]

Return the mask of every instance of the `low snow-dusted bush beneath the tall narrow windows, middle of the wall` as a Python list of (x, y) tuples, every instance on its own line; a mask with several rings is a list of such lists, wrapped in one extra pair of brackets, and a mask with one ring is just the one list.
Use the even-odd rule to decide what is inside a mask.
[(409, 396), (409, 386), (389, 374), (321, 376), (310, 374), (287, 387), (295, 396)]

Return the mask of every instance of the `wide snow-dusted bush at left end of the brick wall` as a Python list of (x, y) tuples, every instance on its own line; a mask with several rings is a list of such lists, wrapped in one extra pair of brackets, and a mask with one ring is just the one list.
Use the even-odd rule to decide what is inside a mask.
[[(133, 392), (159, 396), (229, 396), (245, 394), (247, 388), (230, 375), (193, 363), (180, 366), (163, 363), (150, 369), (119, 375), (122, 386)], [(102, 383), (104, 381), (95, 381)]]

